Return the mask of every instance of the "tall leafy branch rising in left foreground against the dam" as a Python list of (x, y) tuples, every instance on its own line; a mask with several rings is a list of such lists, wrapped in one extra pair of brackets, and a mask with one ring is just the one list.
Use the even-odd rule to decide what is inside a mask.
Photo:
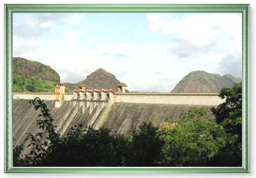
[(40, 109), (37, 126), (44, 131), (27, 135), (26, 141), (29, 141), (27, 147), (30, 147), (30, 153), (23, 159), (21, 158), (23, 146), (15, 147), (14, 166), (40, 166), (49, 153), (52, 152), (55, 144), (60, 141), (59, 134), (54, 130), (53, 117), (46, 104), (38, 97), (32, 99), (30, 103), (33, 104), (36, 111)]

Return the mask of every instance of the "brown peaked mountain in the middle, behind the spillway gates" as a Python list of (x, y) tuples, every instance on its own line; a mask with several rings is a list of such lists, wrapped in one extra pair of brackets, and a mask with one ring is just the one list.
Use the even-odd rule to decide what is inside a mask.
[[(65, 86), (70, 89), (78, 89), (79, 86), (85, 86), (87, 89), (112, 89), (114, 92), (117, 91), (117, 86), (120, 84), (115, 76), (106, 71), (103, 68), (98, 68), (86, 77), (82, 82), (77, 83), (64, 83)], [(69, 92), (70, 92), (69, 90)]]

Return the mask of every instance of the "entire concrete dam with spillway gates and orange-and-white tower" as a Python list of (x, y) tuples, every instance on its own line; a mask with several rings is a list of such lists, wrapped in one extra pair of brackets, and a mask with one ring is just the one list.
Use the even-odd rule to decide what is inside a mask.
[(27, 133), (38, 132), (38, 111), (29, 103), (35, 97), (44, 100), (60, 135), (77, 124), (96, 129), (104, 126), (113, 133), (128, 134), (143, 122), (160, 126), (166, 120), (182, 117), (191, 108), (209, 110), (223, 102), (218, 93), (113, 93), (80, 89), (65, 94), (61, 87), (56, 87), (54, 94), (13, 93), (13, 146), (23, 143)]

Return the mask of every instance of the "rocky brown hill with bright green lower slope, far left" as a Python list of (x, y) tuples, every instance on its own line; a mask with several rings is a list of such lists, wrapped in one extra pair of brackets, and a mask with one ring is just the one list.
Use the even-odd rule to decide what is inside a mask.
[(13, 58), (12, 69), (14, 92), (53, 92), (60, 82), (52, 67), (22, 57)]

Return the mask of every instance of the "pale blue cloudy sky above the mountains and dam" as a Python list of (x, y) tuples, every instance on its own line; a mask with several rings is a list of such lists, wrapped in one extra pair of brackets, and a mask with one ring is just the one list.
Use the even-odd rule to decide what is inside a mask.
[(242, 77), (242, 14), (14, 13), (13, 56), (61, 82), (104, 68), (129, 91), (170, 92), (194, 70)]

